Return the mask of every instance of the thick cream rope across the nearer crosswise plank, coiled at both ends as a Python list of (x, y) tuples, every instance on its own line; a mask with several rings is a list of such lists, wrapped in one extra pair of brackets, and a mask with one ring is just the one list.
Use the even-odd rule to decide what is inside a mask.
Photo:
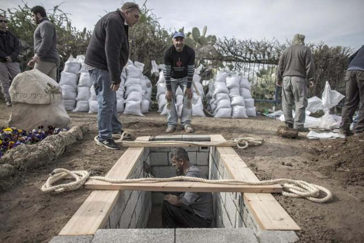
[[(74, 182), (54, 185), (63, 179), (74, 179)], [(315, 203), (326, 203), (332, 199), (332, 193), (319, 185), (307, 183), (301, 180), (274, 179), (266, 181), (245, 181), (245, 180), (207, 180), (198, 177), (175, 176), (170, 178), (139, 178), (115, 180), (103, 176), (90, 176), (87, 171), (68, 171), (67, 169), (55, 169), (46, 183), (42, 186), (43, 192), (64, 192), (73, 191), (83, 186), (87, 179), (102, 180), (110, 183), (155, 183), (161, 181), (197, 181), (203, 183), (241, 184), (241, 185), (273, 185), (280, 184), (283, 188), (282, 195), (288, 197), (304, 197)]]

